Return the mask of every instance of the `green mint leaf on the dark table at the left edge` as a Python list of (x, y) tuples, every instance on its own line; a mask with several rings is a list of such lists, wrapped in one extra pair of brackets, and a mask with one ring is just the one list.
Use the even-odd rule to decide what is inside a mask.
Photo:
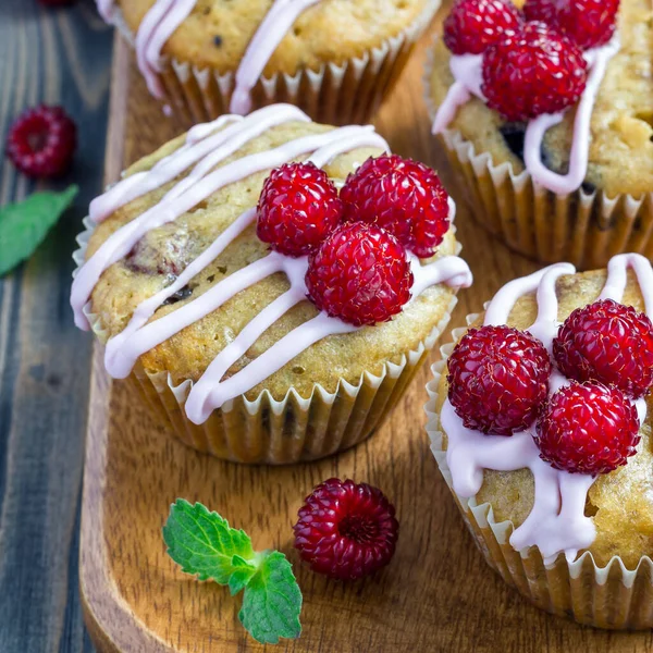
[(77, 192), (70, 186), (63, 193), (34, 193), (0, 209), (0, 276), (32, 256)]

